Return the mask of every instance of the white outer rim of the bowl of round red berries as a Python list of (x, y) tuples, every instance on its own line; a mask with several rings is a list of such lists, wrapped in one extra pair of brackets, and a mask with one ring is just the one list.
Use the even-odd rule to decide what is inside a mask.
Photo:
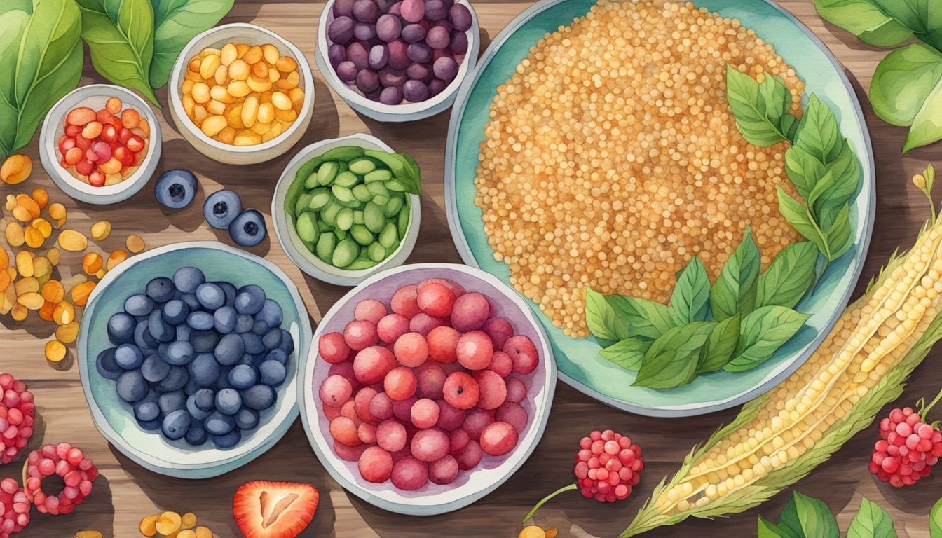
[[(514, 448), (510, 453), (510, 456), (508, 456), (507, 459), (505, 459), (500, 465), (495, 466), (493, 469), (486, 469), (488, 471), (486, 484), (482, 485), (483, 481), (468, 481), (461, 487), (477, 487), (478, 489), (463, 497), (459, 497), (449, 502), (427, 502), (416, 504), (416, 500), (433, 500), (434, 496), (402, 497), (399, 496), (397, 491), (394, 489), (384, 493), (386, 493), (389, 497), (398, 497), (398, 500), (389, 500), (378, 497), (358, 483), (349, 481), (347, 478), (345, 478), (336, 469), (335, 465), (338, 465), (338, 462), (342, 464), (346, 464), (347, 462), (340, 460), (340, 458), (333, 453), (333, 448), (327, 444), (327, 439), (321, 435), (319, 429), (314, 427), (313, 421), (309, 419), (309, 416), (311, 413), (318, 413), (317, 401), (315, 399), (315, 387), (313, 386), (314, 370), (317, 365), (318, 355), (317, 338), (326, 329), (328, 322), (339, 313), (344, 305), (346, 305), (353, 299), (353, 297), (359, 294), (363, 288), (369, 285), (377, 284), (382, 280), (385, 280), (387, 277), (396, 275), (398, 273), (424, 271), (428, 269), (451, 269), (463, 272), (464, 274), (474, 277), (487, 285), (493, 286), (498, 292), (503, 294), (506, 299), (508, 299), (517, 308), (520, 309), (521, 315), (527, 320), (527, 323), (533, 328), (534, 332), (538, 335), (540, 340), (538, 345), (540, 346), (540, 351), (542, 351), (544, 357), (544, 360), (541, 363), (544, 365), (544, 391), (540, 401), (536, 401), (536, 399), (534, 401), (534, 406), (537, 407), (537, 413), (535, 413), (532, 418), (535, 424), (532, 435), (521, 438), (522, 443)], [(446, 514), (447, 512), (452, 512), (468, 506), (469, 504), (479, 500), (481, 497), (485, 497), (497, 489), (497, 487), (499, 487), (502, 483), (509, 480), (511, 476), (527, 462), (529, 456), (533, 453), (533, 450), (536, 449), (537, 445), (540, 443), (540, 439), (543, 437), (546, 423), (549, 418), (549, 412), (553, 404), (553, 396), (556, 391), (557, 370), (556, 359), (553, 355), (553, 348), (549, 344), (549, 338), (544, 331), (543, 325), (533, 315), (533, 312), (529, 309), (526, 302), (524, 302), (521, 296), (517, 294), (512, 288), (500, 282), (500, 280), (497, 279), (494, 275), (484, 272), (481, 269), (472, 268), (462, 264), (411, 264), (393, 269), (386, 269), (380, 273), (370, 276), (362, 284), (357, 285), (353, 289), (349, 290), (347, 294), (345, 294), (337, 302), (333, 303), (331, 309), (327, 311), (324, 317), (321, 318), (320, 323), (318, 323), (317, 331), (314, 334), (314, 339), (312, 340), (311, 346), (309, 347), (308, 354), (305, 358), (302, 359), (302, 361), (303, 369), (299, 370), (298, 372), (298, 375), (303, 376), (300, 380), (300, 383), (298, 383), (298, 404), (300, 406), (300, 419), (301, 424), (304, 427), (304, 432), (307, 434), (308, 442), (311, 444), (311, 448), (313, 448), (317, 454), (317, 459), (322, 465), (324, 465), (324, 468), (327, 469), (328, 474), (331, 475), (333, 480), (339, 482), (340, 485), (344, 487), (344, 489), (374, 506), (396, 514)], [(523, 444), (525, 441), (527, 444)], [(472, 469), (470, 472), (476, 472), (476, 469)]]

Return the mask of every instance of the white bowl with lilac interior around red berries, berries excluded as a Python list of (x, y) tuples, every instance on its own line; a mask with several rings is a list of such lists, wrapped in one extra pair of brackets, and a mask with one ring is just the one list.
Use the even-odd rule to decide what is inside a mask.
[[(342, 332), (353, 319), (357, 302), (375, 299), (388, 304), (399, 286), (418, 284), (427, 278), (447, 278), (463, 285), (468, 291), (478, 291), (488, 296), (497, 315), (507, 318), (516, 334), (526, 334), (533, 341), (540, 355), (540, 363), (526, 376), (512, 374), (527, 386), (527, 396), (520, 405), (527, 411), (528, 422), (524, 431), (519, 432), (515, 448), (503, 456), (485, 453), (478, 466), (461, 471), (450, 484), (428, 482), (415, 491), (403, 491), (390, 481), (365, 481), (360, 476), (356, 462), (342, 460), (334, 452), (330, 422), (324, 416), (322, 403), (317, 396), (320, 383), (327, 378), (332, 365), (319, 357), (317, 339), (321, 334)], [(543, 326), (534, 318), (527, 302), (494, 276), (480, 269), (456, 264), (416, 264), (390, 269), (371, 276), (362, 285), (350, 290), (317, 325), (314, 342), (307, 358), (302, 359), (299, 372), (302, 376), (298, 393), (301, 422), (317, 458), (333, 480), (353, 495), (383, 510), (412, 515), (445, 514), (458, 510), (491, 493), (509, 479), (540, 442), (556, 387), (556, 362), (552, 348)]]

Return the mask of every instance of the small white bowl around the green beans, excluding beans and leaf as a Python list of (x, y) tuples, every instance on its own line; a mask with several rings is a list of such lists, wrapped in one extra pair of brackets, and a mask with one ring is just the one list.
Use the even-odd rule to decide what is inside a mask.
[(311, 144), (295, 155), (288, 166), (282, 172), (282, 177), (275, 186), (275, 194), (271, 199), (271, 220), (275, 224), (275, 236), (282, 244), (284, 253), (295, 263), (300, 270), (313, 276), (317, 280), (335, 285), (358, 285), (365, 281), (367, 277), (382, 271), (390, 269), (405, 263), (406, 259), (412, 253), (415, 247), (415, 240), (418, 238), (419, 222), (422, 220), (422, 207), (420, 199), (414, 194), (409, 195), (409, 204), (411, 207), (411, 217), (406, 236), (399, 242), (396, 252), (382, 260), (369, 269), (347, 270), (338, 269), (325, 263), (316, 255), (307, 250), (304, 242), (300, 240), (298, 232), (294, 225), (288, 220), (287, 212), (284, 210), (284, 199), (288, 189), (294, 183), (295, 175), (304, 166), (304, 163), (317, 155), (322, 155), (327, 150), (340, 146), (361, 146), (369, 150), (382, 150), (393, 153), (395, 150), (382, 142), (381, 139), (356, 133), (349, 137), (339, 139), (321, 140)]

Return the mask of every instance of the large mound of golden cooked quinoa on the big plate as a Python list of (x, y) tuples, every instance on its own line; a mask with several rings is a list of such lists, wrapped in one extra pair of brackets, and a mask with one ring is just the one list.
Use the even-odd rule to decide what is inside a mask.
[(602, 0), (532, 47), (497, 88), (475, 204), (511, 282), (565, 334), (587, 336), (584, 287), (668, 302), (696, 254), (715, 279), (752, 227), (762, 264), (800, 236), (785, 143), (746, 142), (726, 65), (804, 84), (737, 19), (672, 0)]

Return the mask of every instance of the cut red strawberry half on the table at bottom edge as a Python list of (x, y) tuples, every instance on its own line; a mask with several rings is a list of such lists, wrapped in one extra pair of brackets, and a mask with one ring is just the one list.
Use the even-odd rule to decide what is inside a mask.
[(233, 497), (235, 524), (246, 538), (294, 538), (311, 523), (319, 500), (310, 484), (251, 481)]

